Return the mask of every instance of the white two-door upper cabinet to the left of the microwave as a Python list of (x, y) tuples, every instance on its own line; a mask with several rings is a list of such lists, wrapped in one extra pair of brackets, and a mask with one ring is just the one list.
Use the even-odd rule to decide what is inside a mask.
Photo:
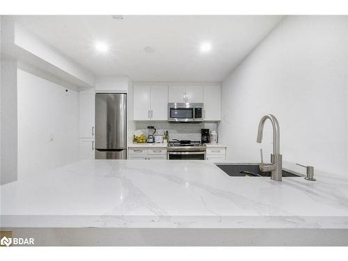
[(134, 120), (168, 120), (168, 86), (134, 86)]

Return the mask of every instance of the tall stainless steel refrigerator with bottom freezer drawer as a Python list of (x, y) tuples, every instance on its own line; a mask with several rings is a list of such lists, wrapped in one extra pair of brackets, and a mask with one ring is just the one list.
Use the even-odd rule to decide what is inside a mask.
[(127, 94), (95, 95), (95, 159), (127, 157)]

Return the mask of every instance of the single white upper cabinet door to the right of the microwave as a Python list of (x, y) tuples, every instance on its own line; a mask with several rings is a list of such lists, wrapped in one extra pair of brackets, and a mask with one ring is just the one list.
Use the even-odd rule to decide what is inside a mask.
[(221, 120), (221, 86), (204, 86), (204, 120)]

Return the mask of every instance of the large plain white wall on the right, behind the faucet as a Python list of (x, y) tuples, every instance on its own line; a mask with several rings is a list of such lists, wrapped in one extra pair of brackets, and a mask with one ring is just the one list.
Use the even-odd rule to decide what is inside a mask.
[[(280, 123), (283, 160), (347, 173), (347, 17), (287, 17), (223, 81), (219, 141), (228, 160), (259, 162), (258, 122)], [(271, 152), (267, 122), (261, 145)]]

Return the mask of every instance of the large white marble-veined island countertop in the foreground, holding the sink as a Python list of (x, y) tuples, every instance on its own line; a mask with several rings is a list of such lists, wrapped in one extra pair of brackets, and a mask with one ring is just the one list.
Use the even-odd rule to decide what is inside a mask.
[(229, 177), (209, 161), (85, 160), (2, 185), (1, 227), (348, 228), (348, 179), (315, 177)]

